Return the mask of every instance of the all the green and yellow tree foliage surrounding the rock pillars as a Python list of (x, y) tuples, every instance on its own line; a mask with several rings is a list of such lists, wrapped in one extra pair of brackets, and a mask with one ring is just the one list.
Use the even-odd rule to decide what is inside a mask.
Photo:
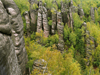
[[(21, 15), (25, 11), (29, 11), (30, 4), (28, 0), (14, 0), (17, 6), (20, 9)], [(38, 0), (39, 1), (39, 0)], [(53, 14), (55, 14), (54, 9), (58, 12), (61, 12), (61, 1), (68, 3), (70, 0), (56, 0), (57, 4), (52, 4), (53, 0), (42, 0), (43, 4), (47, 4)], [(100, 1), (99, 0), (73, 0), (74, 6), (81, 5), (84, 10), (83, 20), (80, 20), (80, 17), (77, 13), (73, 13), (74, 26), (73, 30), (68, 27), (66, 24), (64, 27), (64, 42), (65, 42), (65, 51), (64, 54), (61, 54), (57, 51), (58, 44), (58, 35), (49, 36), (48, 38), (44, 37), (43, 31), (41, 33), (32, 33), (30, 38), (25, 38), (25, 47), (28, 53), (28, 65), (32, 70), (33, 61), (36, 59), (45, 59), (48, 62), (48, 72), (52, 75), (99, 75), (99, 66), (100, 66)], [(91, 22), (90, 17), (90, 8), (99, 7), (95, 10), (95, 23)], [(33, 9), (37, 9), (38, 5), (34, 4)], [(24, 32), (26, 30), (25, 18), (22, 17), (24, 22)], [(92, 52), (90, 66), (86, 66), (85, 59), (85, 39), (83, 35), (84, 27), (82, 27), (83, 21), (87, 22), (87, 29), (90, 32), (90, 35), (95, 39), (96, 49)], [(48, 17), (48, 25), (52, 25), (51, 17)], [(62, 25), (64, 25), (62, 23)], [(86, 35), (88, 38), (89, 35)], [(41, 44), (41, 45), (39, 45)], [(90, 41), (90, 44), (93, 44)], [(67, 50), (67, 52), (66, 52)], [(96, 69), (95, 69), (96, 68)], [(82, 70), (82, 71), (81, 71)], [(38, 70), (35, 70), (32, 75), (36, 75)], [(42, 75), (42, 73), (41, 73)], [(47, 74), (46, 74), (47, 75)]]

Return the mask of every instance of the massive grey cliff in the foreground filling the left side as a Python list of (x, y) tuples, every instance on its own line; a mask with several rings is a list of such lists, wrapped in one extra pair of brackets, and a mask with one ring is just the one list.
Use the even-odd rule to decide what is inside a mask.
[(0, 37), (0, 75), (26, 75), (23, 21), (13, 0), (0, 0)]

